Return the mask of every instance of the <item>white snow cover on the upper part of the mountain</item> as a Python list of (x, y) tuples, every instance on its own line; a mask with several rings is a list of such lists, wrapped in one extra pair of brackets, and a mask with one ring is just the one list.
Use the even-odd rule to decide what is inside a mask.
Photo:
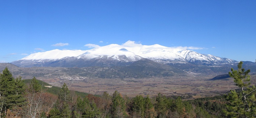
[(179, 62), (198, 61), (230, 61), (213, 55), (204, 55), (184, 47), (165, 47), (158, 44), (142, 45), (134, 41), (127, 41), (122, 45), (110, 44), (90, 50), (50, 50), (28, 55), (21, 60), (60, 60), (62, 58), (76, 57), (76, 59), (107, 58), (118, 61), (134, 62), (141, 58), (148, 58), (154, 61), (168, 60)]

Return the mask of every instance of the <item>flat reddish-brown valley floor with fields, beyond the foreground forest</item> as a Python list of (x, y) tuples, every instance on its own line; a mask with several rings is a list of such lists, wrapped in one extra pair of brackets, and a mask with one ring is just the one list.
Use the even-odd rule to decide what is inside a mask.
[(136, 95), (166, 96), (178, 95), (185, 99), (212, 97), (236, 89), (233, 78), (209, 80), (213, 77), (150, 77), (106, 79), (88, 78), (82, 80), (60, 80), (58, 78), (41, 79), (53, 86), (61, 86), (65, 82), (70, 90), (101, 95), (103, 92), (113, 94), (116, 90), (129, 97)]

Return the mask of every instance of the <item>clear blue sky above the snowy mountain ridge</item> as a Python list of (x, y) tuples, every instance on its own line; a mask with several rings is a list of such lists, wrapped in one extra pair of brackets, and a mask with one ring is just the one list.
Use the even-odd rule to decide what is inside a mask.
[(0, 0), (1, 63), (129, 40), (254, 62), (256, 1)]

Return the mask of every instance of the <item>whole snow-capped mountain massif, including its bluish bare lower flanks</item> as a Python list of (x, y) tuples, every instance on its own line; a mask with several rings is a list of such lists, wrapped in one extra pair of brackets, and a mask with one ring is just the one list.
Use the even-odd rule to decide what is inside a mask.
[(193, 63), (214, 65), (236, 62), (232, 59), (204, 55), (192, 50), (165, 47), (158, 44), (142, 45), (127, 41), (122, 45), (110, 44), (90, 50), (50, 50), (28, 55), (13, 64), (21, 67), (86, 67), (125, 66), (142, 58), (159, 63)]

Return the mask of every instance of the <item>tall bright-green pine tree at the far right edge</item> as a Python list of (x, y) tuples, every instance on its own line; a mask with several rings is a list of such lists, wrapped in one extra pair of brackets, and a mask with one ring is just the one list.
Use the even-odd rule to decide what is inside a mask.
[(256, 116), (256, 87), (249, 86), (250, 83), (250, 70), (242, 68), (243, 62), (238, 63), (238, 70), (231, 68), (229, 76), (234, 78), (234, 82), (240, 88), (240, 92), (235, 90), (230, 91), (226, 96), (228, 100), (227, 111), (224, 111), (227, 117), (255, 117)]

